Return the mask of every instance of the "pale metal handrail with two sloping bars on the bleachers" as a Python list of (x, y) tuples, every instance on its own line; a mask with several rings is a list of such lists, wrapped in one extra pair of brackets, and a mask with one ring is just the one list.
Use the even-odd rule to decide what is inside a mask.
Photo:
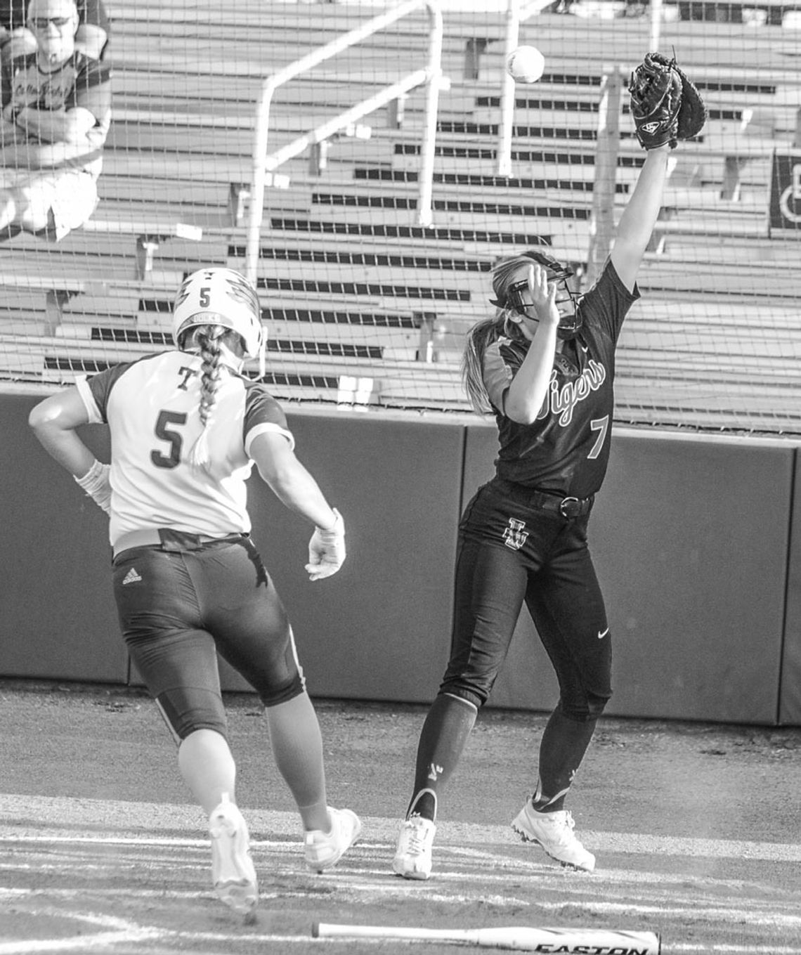
[[(374, 96), (364, 99), (350, 107), (316, 129), (309, 130), (301, 137), (287, 143), (277, 152), (267, 155), (269, 135), (270, 104), (275, 91), (290, 79), (312, 67), (318, 66), (330, 57), (347, 50), (348, 47), (371, 36), (373, 33), (389, 27), (392, 23), (408, 16), (422, 7), (429, 12), (429, 51), (428, 64), (424, 69), (415, 70), (397, 82), (383, 87)], [(442, 13), (432, 0), (407, 0), (389, 11), (373, 17), (361, 27), (344, 33), (323, 47), (319, 47), (283, 70), (263, 80), (261, 95), (256, 105), (256, 127), (253, 142), (253, 176), (250, 183), (250, 208), (247, 222), (247, 244), (245, 247), (245, 275), (255, 284), (259, 264), (259, 248), (262, 235), (264, 188), (268, 174), (273, 173), (288, 159), (300, 155), (307, 147), (327, 141), (339, 131), (348, 128), (358, 119), (405, 96), (417, 86), (427, 85), (423, 139), (420, 147), (420, 169), (418, 173), (419, 193), (417, 200), (417, 223), (432, 224), (432, 180), (434, 160), (434, 139), (436, 137), (436, 115), (439, 90), (442, 78)]]

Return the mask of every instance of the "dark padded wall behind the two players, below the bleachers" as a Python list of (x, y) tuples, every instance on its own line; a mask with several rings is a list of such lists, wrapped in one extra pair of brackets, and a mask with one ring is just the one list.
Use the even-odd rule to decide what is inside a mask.
[[(136, 683), (118, 635), (105, 518), (39, 447), (36, 397), (0, 398), (0, 675)], [(254, 479), (253, 534), (312, 696), (427, 702), (445, 664), (455, 528), (492, 474), (467, 417), (287, 409), (297, 453), (348, 526), (310, 584), (309, 528)], [(107, 454), (103, 428), (85, 436)], [(607, 713), (801, 725), (801, 517), (793, 442), (619, 428), (590, 524), (615, 641)], [(222, 668), (228, 690), (246, 690)], [(548, 710), (556, 683), (521, 617), (491, 705)]]

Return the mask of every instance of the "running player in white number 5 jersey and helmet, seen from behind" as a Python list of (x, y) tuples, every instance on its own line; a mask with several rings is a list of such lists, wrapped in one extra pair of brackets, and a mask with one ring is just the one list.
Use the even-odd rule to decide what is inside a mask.
[[(263, 348), (256, 292), (239, 273), (200, 269), (179, 288), (178, 350), (118, 365), (31, 413), (35, 435), (110, 515), (114, 591), (134, 663), (179, 743), (179, 769), (209, 816), (218, 896), (249, 915), (258, 885), (236, 805), (217, 653), (260, 694), (279, 771), (305, 829), (307, 865), (336, 864), (358, 837), (327, 805), (323, 744), (292, 630), (249, 537), (245, 480), (255, 463), (287, 507), (315, 524), (311, 580), (345, 560), (342, 518), (294, 455), (284, 412), (242, 376)], [(111, 465), (76, 434), (105, 423)]]

